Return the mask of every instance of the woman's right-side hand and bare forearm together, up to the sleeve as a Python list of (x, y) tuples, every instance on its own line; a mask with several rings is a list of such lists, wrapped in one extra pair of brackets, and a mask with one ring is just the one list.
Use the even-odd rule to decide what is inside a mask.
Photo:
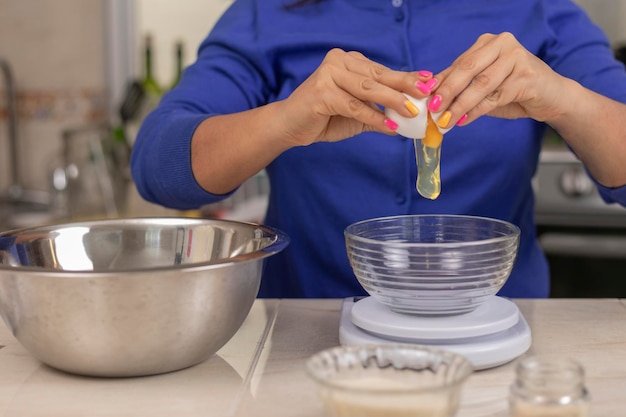
[(435, 79), (431, 111), (449, 111), (448, 127), (482, 115), (546, 122), (597, 181), (626, 185), (626, 105), (557, 74), (512, 34), (482, 35)]

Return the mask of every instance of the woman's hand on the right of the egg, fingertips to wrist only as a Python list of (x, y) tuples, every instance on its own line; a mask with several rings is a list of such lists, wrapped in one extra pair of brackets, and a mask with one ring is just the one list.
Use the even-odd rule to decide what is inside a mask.
[(435, 78), (436, 111), (450, 111), (450, 124), (483, 115), (549, 122), (563, 112), (565, 79), (510, 33), (482, 35)]

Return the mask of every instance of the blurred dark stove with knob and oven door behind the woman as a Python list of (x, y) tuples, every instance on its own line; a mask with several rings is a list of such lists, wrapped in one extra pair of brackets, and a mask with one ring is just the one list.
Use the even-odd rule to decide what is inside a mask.
[(537, 235), (552, 297), (624, 297), (626, 208), (607, 204), (582, 163), (562, 144), (541, 152), (533, 181)]

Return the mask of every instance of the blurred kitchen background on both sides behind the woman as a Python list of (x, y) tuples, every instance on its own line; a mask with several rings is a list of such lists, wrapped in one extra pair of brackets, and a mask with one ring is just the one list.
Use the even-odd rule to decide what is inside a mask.
[[(179, 213), (143, 201), (127, 169), (141, 118), (231, 2), (0, 0), (0, 230), (129, 215), (261, 221), (263, 172), (223, 203)], [(578, 3), (623, 59), (626, 0)], [(626, 296), (626, 209), (601, 201), (554, 134), (535, 188), (553, 296)]]

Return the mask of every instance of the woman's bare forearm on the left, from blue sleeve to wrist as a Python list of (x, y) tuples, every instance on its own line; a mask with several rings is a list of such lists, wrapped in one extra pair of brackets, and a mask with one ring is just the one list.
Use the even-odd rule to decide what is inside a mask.
[(191, 167), (198, 184), (226, 194), (265, 168), (292, 145), (281, 124), (282, 103), (214, 116), (198, 126), (191, 142)]

